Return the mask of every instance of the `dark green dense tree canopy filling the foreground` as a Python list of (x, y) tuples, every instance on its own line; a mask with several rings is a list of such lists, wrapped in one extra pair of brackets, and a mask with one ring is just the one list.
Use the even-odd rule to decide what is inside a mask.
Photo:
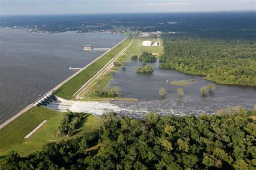
[(49, 143), (27, 157), (11, 152), (2, 168), (255, 169), (256, 126), (247, 114), (241, 106), (199, 117), (104, 114), (99, 130)]

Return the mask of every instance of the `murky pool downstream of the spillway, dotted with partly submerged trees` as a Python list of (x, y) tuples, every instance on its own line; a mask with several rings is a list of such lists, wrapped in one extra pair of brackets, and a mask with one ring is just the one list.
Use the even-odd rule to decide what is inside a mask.
[[(242, 105), (248, 109), (256, 104), (256, 87), (219, 85), (213, 81), (204, 80), (202, 76), (185, 74), (176, 70), (159, 69), (159, 63), (151, 63), (154, 66), (152, 74), (137, 73), (135, 70), (141, 66), (141, 62), (127, 62), (126, 69), (120, 68), (112, 74), (113, 79), (109, 87), (119, 87), (123, 98), (138, 98), (138, 103), (114, 102), (114, 105), (125, 110), (130, 117), (140, 118), (146, 112), (158, 112), (161, 114), (200, 114), (201, 112), (214, 113), (225, 107)], [(150, 63), (148, 63), (150, 64)], [(175, 80), (196, 81), (187, 86), (172, 85)], [(168, 82), (166, 81), (168, 80)], [(216, 89), (206, 95), (200, 92), (201, 86), (215, 84)], [(164, 87), (168, 93), (163, 98), (158, 90)], [(177, 93), (177, 88), (185, 91), (183, 96)], [(132, 113), (132, 114), (130, 114)]]

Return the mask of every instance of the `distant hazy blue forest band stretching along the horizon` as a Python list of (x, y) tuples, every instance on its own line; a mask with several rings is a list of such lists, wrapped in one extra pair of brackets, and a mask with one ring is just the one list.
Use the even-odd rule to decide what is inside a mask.
[(255, 11), (200, 13), (118, 13), (101, 15), (2, 16), (0, 26), (36, 26), (43, 31), (88, 31), (129, 28), (138, 31), (256, 29)]

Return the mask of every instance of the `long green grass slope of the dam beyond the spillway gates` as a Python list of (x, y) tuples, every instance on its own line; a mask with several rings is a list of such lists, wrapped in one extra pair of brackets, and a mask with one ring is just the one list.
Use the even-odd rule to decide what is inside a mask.
[(104, 56), (100, 57), (94, 63), (86, 67), (77, 76), (70, 79), (64, 85), (59, 87), (54, 94), (64, 99), (73, 99), (73, 94), (80, 89), (91, 77), (93, 77), (97, 71), (102, 69), (112, 58), (114, 58), (120, 51), (122, 51), (132, 40), (132, 36), (125, 39), (122, 43), (114, 47), (112, 50), (107, 52)]

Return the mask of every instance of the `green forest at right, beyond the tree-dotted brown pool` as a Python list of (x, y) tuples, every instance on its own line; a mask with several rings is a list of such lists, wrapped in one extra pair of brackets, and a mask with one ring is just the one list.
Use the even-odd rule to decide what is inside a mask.
[(165, 34), (159, 67), (204, 75), (220, 84), (256, 86), (255, 31)]

